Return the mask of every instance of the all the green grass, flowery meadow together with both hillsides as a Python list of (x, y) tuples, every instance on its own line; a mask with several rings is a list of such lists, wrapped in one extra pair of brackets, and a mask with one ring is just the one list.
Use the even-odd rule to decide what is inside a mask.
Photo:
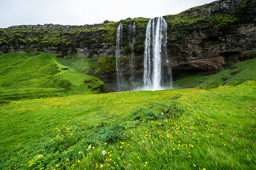
[(109, 94), (51, 54), (0, 61), (0, 169), (256, 168), (255, 59), (174, 82), (196, 88)]

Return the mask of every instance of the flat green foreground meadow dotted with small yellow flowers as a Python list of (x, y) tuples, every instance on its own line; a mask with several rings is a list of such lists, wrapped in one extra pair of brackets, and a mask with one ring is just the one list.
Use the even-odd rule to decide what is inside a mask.
[(253, 169), (255, 87), (11, 101), (0, 168)]

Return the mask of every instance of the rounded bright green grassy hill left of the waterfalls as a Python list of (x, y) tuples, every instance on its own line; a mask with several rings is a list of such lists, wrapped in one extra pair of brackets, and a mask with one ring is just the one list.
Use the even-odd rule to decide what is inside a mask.
[(61, 65), (48, 53), (32, 56), (9, 53), (0, 56), (0, 99), (96, 94), (104, 92), (100, 79)]

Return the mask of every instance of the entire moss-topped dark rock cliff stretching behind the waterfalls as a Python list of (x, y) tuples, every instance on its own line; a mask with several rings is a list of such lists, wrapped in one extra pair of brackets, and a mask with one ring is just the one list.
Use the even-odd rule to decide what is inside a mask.
[[(168, 23), (167, 49), (174, 79), (195, 74), (213, 74), (233, 63), (249, 59), (256, 51), (256, 5), (254, 0), (221, 0), (164, 16)], [(123, 74), (143, 76), (143, 54), (149, 19), (123, 22), (121, 53)], [(129, 41), (129, 23), (136, 32)], [(19, 25), (0, 29), (0, 54), (43, 51), (58, 57), (73, 55), (97, 58), (115, 56), (118, 23), (70, 25)], [(114, 69), (113, 69), (114, 70)], [(102, 73), (101, 78), (106, 78)], [(115, 78), (115, 73), (108, 74)]]

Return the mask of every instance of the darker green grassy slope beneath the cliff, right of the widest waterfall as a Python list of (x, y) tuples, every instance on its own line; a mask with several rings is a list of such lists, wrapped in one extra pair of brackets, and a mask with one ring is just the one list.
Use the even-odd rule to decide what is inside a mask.
[[(251, 53), (255, 56), (255, 53)], [(193, 75), (178, 79), (175, 88), (216, 88), (219, 86), (236, 86), (246, 80), (256, 80), (256, 58), (242, 61), (230, 69), (222, 70), (212, 75)]]

